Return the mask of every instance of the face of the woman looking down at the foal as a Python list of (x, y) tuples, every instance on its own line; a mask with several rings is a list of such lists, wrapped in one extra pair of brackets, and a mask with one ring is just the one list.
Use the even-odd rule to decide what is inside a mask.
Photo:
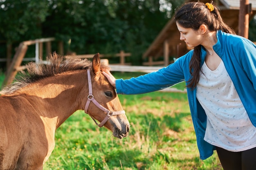
[(180, 31), (180, 40), (186, 42), (187, 46), (193, 48), (202, 44), (203, 35), (200, 31), (195, 31), (191, 28), (184, 28), (180, 26), (178, 22), (176, 22), (177, 29)]

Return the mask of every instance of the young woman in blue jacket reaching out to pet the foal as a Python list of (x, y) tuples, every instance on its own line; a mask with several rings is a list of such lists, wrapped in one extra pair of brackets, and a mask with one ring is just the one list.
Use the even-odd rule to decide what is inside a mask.
[(103, 74), (119, 94), (148, 93), (185, 80), (200, 158), (217, 150), (224, 170), (256, 169), (256, 46), (235, 35), (210, 3), (184, 4), (175, 20), (180, 40), (193, 50), (137, 78)]

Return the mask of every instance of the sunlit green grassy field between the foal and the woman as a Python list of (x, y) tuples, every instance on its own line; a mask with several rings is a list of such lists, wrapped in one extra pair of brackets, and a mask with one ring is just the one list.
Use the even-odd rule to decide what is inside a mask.
[[(139, 73), (114, 75), (129, 78)], [(184, 83), (176, 87), (184, 89)], [(199, 159), (185, 93), (119, 98), (131, 125), (128, 137), (112, 137), (79, 110), (56, 130), (56, 146), (44, 170), (222, 170), (216, 152)]]

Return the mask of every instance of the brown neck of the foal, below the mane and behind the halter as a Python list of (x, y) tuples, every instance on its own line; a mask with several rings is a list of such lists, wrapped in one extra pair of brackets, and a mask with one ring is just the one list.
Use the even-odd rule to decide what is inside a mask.
[(47, 77), (27, 87), (26, 98), (41, 117), (58, 128), (76, 110), (83, 110), (88, 96), (86, 71)]

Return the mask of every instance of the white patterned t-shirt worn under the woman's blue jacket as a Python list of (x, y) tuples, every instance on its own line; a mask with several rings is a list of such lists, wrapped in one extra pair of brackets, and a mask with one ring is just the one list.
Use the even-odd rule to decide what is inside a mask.
[(197, 84), (196, 97), (207, 115), (204, 140), (229, 151), (256, 147), (256, 128), (238, 96), (224, 63), (211, 71), (206, 63)]

